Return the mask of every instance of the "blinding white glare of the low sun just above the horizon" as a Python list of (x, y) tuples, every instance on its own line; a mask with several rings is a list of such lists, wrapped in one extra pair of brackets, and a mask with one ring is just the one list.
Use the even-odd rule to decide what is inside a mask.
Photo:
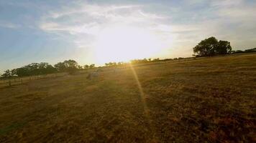
[(160, 40), (145, 29), (115, 26), (104, 29), (98, 36), (95, 54), (99, 64), (109, 61), (142, 59), (159, 51)]

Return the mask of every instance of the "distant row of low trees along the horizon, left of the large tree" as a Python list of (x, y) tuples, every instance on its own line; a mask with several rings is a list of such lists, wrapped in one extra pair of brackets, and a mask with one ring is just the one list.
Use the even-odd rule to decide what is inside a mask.
[[(155, 61), (166, 61), (166, 60), (175, 60), (175, 59), (184, 59), (184, 58), (174, 58), (174, 59), (133, 59), (130, 62), (109, 62), (105, 63), (105, 66), (124, 66), (129, 63), (131, 64), (145, 64), (147, 62)], [(58, 62), (54, 66), (47, 62), (41, 63), (32, 63), (26, 66), (19, 67), (17, 69), (4, 71), (4, 74), (1, 74), (0, 79), (8, 79), (12, 77), (29, 77), (29, 76), (39, 76), (46, 74), (54, 74), (57, 72), (68, 72), (72, 74), (73, 72), (78, 71), (79, 69), (92, 69), (95, 68), (95, 64), (86, 64), (81, 66), (77, 61), (73, 59), (65, 60), (63, 62)]]

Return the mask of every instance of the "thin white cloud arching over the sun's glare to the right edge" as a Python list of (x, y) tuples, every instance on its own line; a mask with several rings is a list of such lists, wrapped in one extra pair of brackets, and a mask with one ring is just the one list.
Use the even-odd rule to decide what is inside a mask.
[[(200, 4), (209, 7), (193, 9)], [(155, 32), (165, 45), (170, 45), (167, 49), (187, 51), (186, 56), (191, 54), (191, 47), (208, 36), (232, 41), (236, 46), (245, 43), (243, 37), (252, 36), (242, 31), (255, 29), (255, 5), (248, 5), (243, 0), (189, 1), (186, 7), (170, 6), (170, 11), (175, 9), (172, 13), (168, 9), (162, 13), (146, 11), (147, 6), (77, 3), (42, 16), (40, 29), (75, 35), (73, 42), (78, 47), (88, 47), (93, 45), (93, 38), (86, 38), (84, 34), (96, 36), (106, 27), (120, 24), (137, 26)]]

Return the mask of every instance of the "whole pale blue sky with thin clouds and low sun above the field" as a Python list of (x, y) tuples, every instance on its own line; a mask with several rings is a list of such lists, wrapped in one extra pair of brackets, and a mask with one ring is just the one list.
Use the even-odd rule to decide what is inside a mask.
[(191, 56), (209, 36), (254, 48), (255, 7), (255, 0), (0, 0), (0, 72), (65, 59)]

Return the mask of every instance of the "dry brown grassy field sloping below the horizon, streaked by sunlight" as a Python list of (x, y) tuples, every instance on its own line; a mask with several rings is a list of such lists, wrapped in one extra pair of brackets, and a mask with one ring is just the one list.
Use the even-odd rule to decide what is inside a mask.
[(256, 54), (0, 87), (0, 142), (256, 142)]

